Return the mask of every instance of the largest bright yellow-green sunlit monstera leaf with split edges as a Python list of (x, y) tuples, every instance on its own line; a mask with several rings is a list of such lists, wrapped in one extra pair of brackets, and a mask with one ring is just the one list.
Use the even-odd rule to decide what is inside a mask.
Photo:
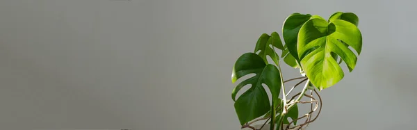
[(312, 18), (302, 26), (297, 40), (301, 66), (319, 90), (333, 86), (344, 76), (332, 55), (340, 56), (352, 72), (357, 56), (345, 44), (358, 55), (362, 47), (362, 36), (357, 26), (343, 19), (327, 22), (322, 18)]

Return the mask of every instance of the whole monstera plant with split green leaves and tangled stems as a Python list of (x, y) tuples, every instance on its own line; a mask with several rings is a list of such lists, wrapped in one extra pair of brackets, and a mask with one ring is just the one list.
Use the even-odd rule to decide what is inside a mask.
[[(255, 129), (251, 124), (264, 121), (263, 124), (270, 124), (271, 130), (302, 129), (316, 120), (322, 104), (319, 92), (334, 86), (343, 79), (345, 72), (352, 72), (356, 66), (362, 47), (358, 24), (354, 13), (337, 12), (327, 20), (319, 15), (293, 13), (284, 22), (284, 40), (281, 41), (277, 32), (263, 33), (253, 52), (238, 57), (231, 74), (232, 83), (239, 79), (231, 97), (242, 127)], [(279, 60), (300, 70), (301, 77), (284, 81)], [(343, 64), (348, 71), (342, 70)], [(243, 76), (249, 78), (242, 79)], [(286, 91), (285, 83), (297, 80), (299, 82)], [(288, 97), (293, 88), (304, 82), (301, 92)], [(244, 86), (250, 88), (238, 96)], [(270, 91), (271, 101), (264, 86)], [(313, 97), (313, 92), (318, 98)], [(303, 97), (310, 100), (302, 101)], [(298, 104), (310, 104), (311, 111), (299, 117)], [(318, 106), (320, 110), (313, 117)], [(303, 118), (305, 122), (297, 125)], [(286, 125), (284, 128), (284, 124), (295, 127)]]

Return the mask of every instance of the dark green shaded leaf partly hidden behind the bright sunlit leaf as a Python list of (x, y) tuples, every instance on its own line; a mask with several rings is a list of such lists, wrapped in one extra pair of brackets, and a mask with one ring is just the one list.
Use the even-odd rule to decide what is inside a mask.
[[(292, 58), (295, 58), (296, 61), (300, 61), (297, 53), (298, 32), (300, 31), (301, 26), (310, 18), (311, 15), (309, 14), (303, 15), (300, 13), (293, 13), (286, 18), (284, 26), (282, 26), (282, 36), (284, 37), (286, 47), (288, 47), (288, 51), (291, 54), (287, 54), (286, 56), (292, 56)], [(288, 65), (291, 67), (297, 67), (295, 63), (292, 62), (292, 58), (288, 57), (288, 61), (286, 63), (289, 63)]]

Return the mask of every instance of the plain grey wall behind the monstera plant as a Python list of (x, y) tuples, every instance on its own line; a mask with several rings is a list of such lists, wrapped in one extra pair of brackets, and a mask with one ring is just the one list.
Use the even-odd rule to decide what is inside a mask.
[(309, 129), (417, 129), (415, 4), (3, 0), (0, 129), (238, 129), (236, 58), (291, 13), (336, 11), (359, 15), (363, 51)]

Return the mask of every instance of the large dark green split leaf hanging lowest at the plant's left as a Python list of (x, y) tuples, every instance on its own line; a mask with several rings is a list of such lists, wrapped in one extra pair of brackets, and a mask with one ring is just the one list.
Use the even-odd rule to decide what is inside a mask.
[[(268, 95), (262, 84), (265, 84), (270, 89), (272, 103), (279, 103), (278, 97), (281, 88), (281, 78), (279, 77), (277, 67), (272, 64), (266, 65), (263, 58), (257, 54), (246, 53), (238, 58), (231, 75), (232, 83), (235, 83), (236, 80), (247, 74), (256, 75), (240, 82), (231, 94), (232, 99), (235, 101), (236, 113), (242, 125), (264, 115), (271, 109)], [(246, 85), (252, 86), (236, 100), (236, 94)]]

